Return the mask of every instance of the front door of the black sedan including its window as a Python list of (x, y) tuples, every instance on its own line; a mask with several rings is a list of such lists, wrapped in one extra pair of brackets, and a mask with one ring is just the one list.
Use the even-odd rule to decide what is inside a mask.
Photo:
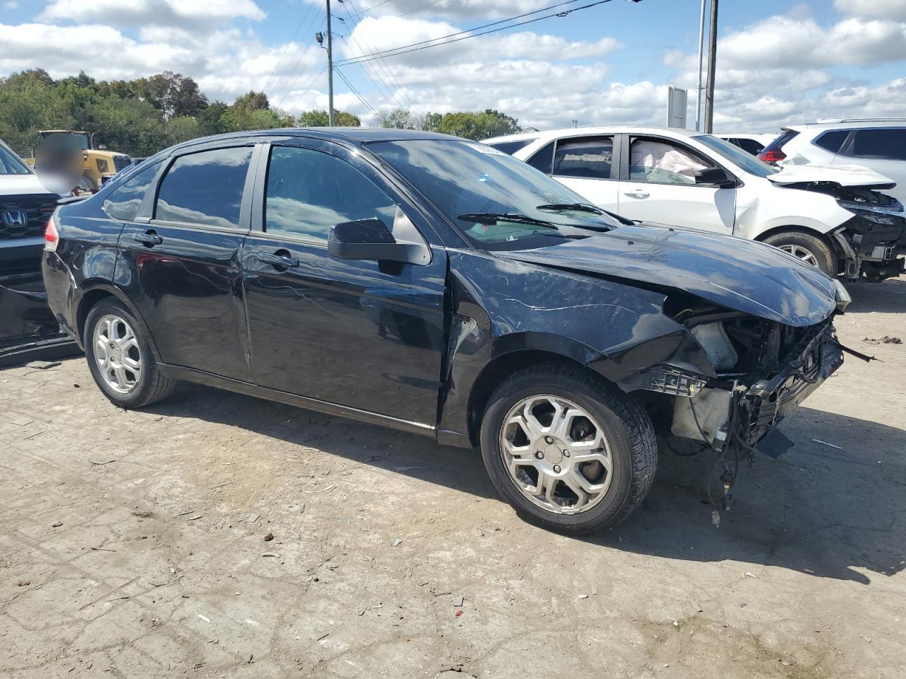
[(419, 215), (360, 156), (313, 139), (270, 148), (255, 205), (242, 256), (253, 381), (436, 425), (446, 251), (427, 265), (327, 251), (333, 225), (376, 218), (419, 238)]

